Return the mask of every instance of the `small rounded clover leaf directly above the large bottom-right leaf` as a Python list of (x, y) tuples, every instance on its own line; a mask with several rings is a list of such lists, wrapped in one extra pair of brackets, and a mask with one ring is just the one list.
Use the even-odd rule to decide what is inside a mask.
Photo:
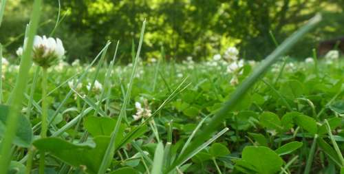
[(259, 116), (259, 123), (267, 129), (282, 129), (281, 120), (275, 113), (265, 111)]

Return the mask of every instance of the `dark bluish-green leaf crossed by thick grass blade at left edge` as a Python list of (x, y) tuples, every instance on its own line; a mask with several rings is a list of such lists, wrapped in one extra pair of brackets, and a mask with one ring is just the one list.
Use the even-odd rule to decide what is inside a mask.
[[(8, 113), (10, 107), (7, 105), (0, 105), (0, 137), (6, 131), (6, 121), (8, 118)], [(19, 115), (17, 133), (14, 137), (14, 144), (21, 147), (29, 147), (32, 143), (33, 132), (31, 128), (31, 123), (25, 116)]]

